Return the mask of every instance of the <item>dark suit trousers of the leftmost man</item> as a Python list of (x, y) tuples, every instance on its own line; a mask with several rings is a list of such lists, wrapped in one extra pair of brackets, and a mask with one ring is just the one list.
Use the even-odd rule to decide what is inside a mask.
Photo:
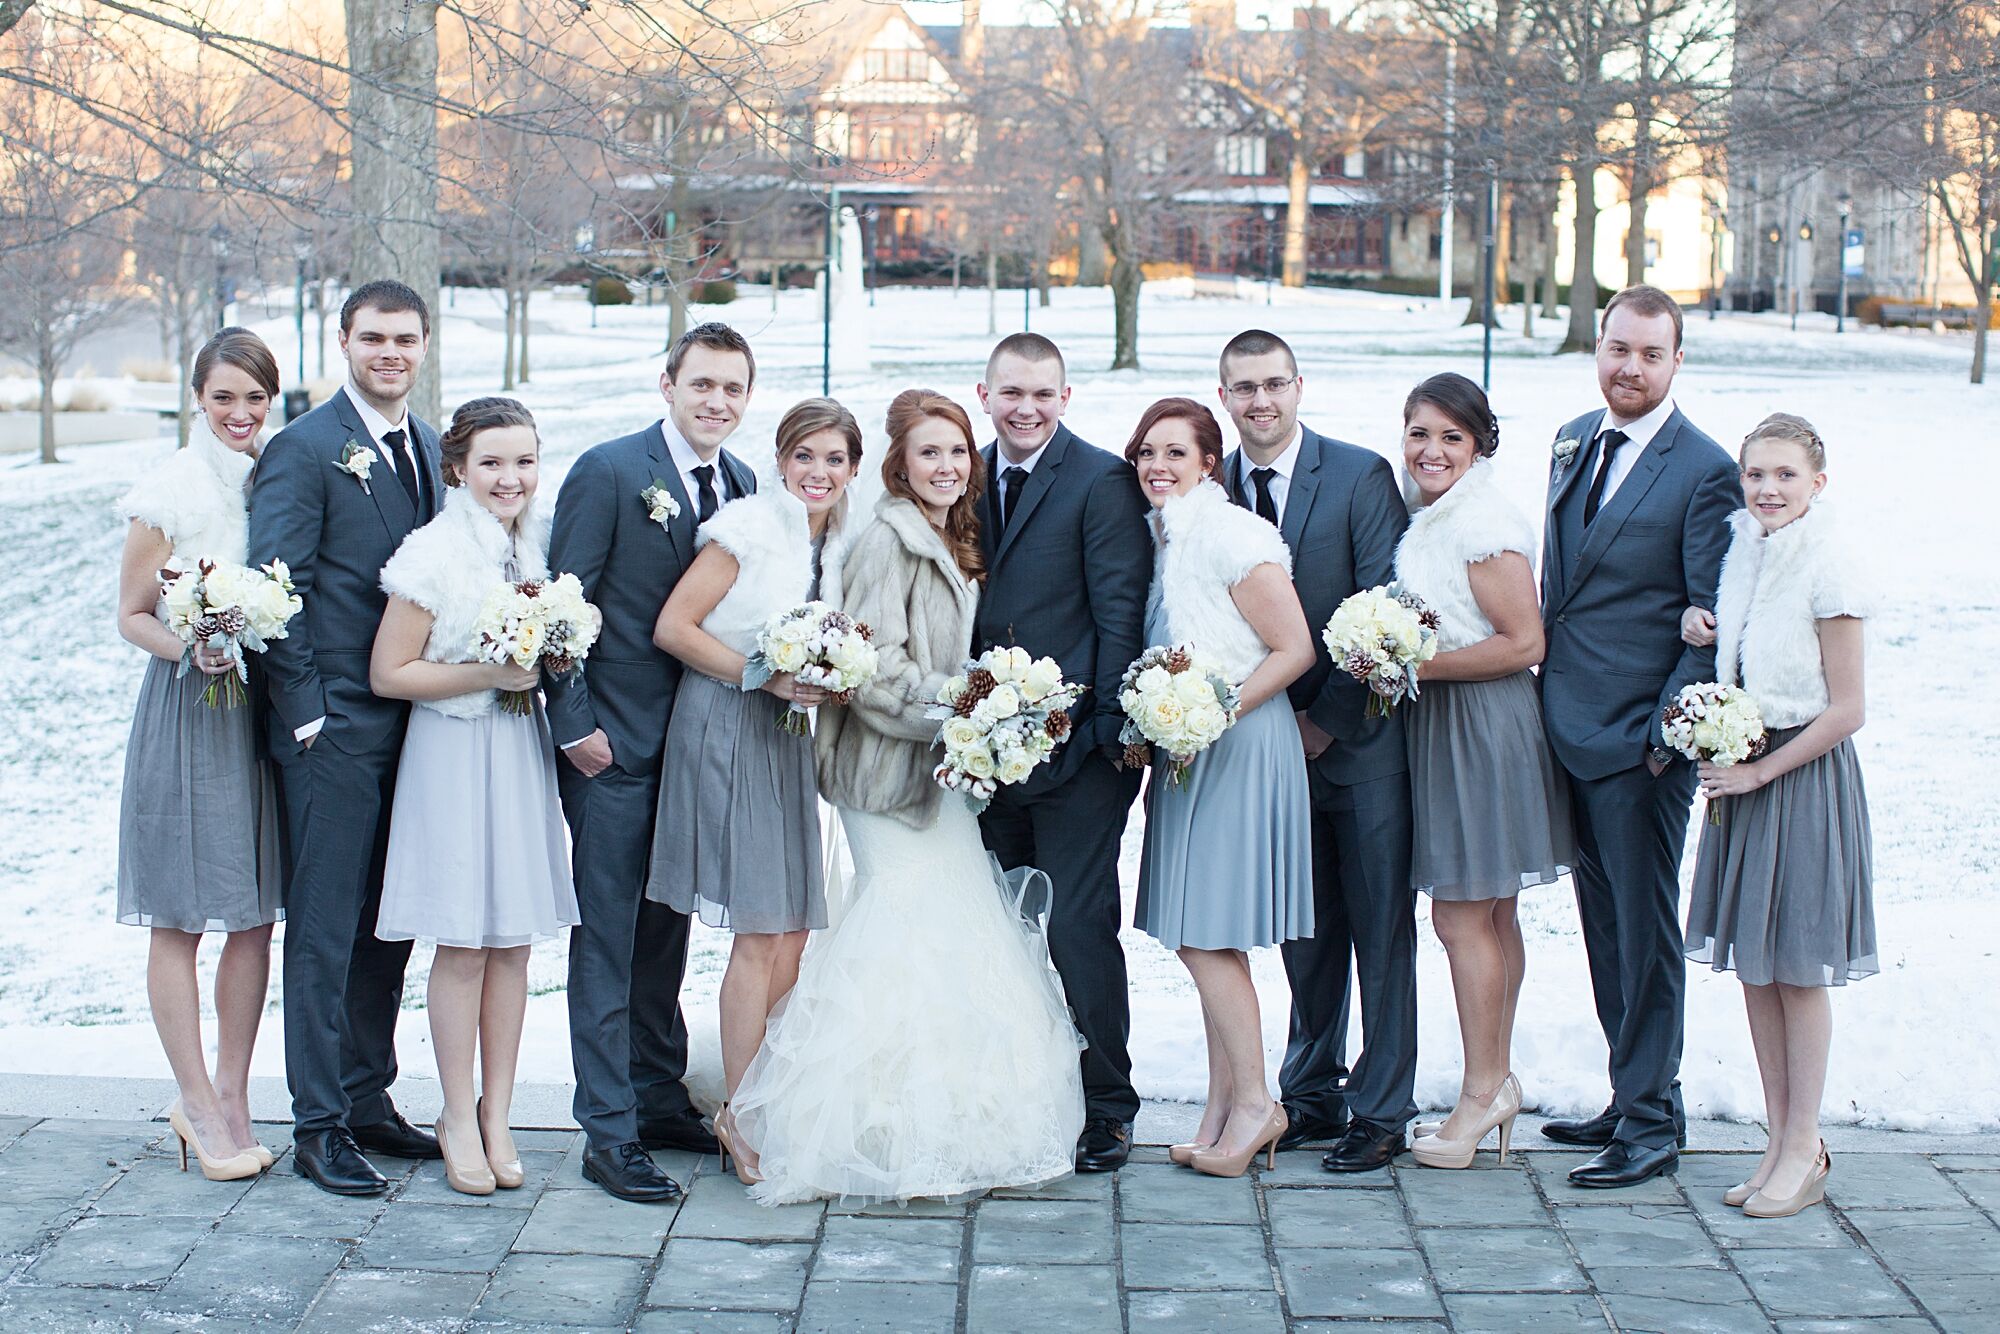
[(276, 744), (292, 874), (284, 892), (284, 1068), (294, 1134), (394, 1110), (408, 940), (376, 940), (402, 728), (362, 754), (320, 732)]

